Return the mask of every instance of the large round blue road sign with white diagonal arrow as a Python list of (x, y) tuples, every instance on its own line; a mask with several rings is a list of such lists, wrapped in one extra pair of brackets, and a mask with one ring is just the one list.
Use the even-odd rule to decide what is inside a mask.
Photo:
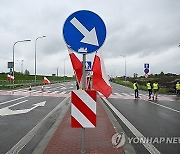
[(80, 10), (66, 19), (63, 36), (71, 49), (81, 54), (88, 54), (97, 51), (103, 45), (106, 26), (96, 13)]

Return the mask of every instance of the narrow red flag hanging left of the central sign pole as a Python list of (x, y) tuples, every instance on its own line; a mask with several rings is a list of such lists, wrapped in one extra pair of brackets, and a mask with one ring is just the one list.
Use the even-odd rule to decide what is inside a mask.
[(82, 62), (76, 57), (76, 55), (73, 53), (72, 50), (68, 49), (69, 51), (69, 56), (71, 59), (71, 63), (73, 66), (73, 70), (76, 76), (76, 79), (78, 83), (80, 84), (81, 78), (82, 78), (82, 73), (83, 73), (83, 64)]

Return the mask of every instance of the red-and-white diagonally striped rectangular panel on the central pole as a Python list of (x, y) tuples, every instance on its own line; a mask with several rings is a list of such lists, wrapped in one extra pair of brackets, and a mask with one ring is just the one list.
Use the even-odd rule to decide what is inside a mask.
[(96, 91), (72, 91), (71, 126), (73, 128), (96, 127)]

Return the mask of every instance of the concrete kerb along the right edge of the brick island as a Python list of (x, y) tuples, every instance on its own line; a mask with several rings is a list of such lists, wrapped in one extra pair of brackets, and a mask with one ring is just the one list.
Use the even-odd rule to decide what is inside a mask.
[[(100, 101), (100, 102), (101, 102), (102, 106), (104, 107), (104, 110), (106, 111), (107, 115), (109, 116), (114, 129), (116, 130), (117, 133), (123, 132), (125, 134), (126, 141), (128, 141), (127, 135), (124, 132), (124, 130), (122, 129), (121, 125), (118, 123), (118, 121), (116, 120), (116, 118), (114, 117), (112, 112), (109, 110), (109, 108), (104, 104), (106, 102), (106, 98), (101, 98), (101, 100), (102, 101)], [(123, 149), (124, 149), (125, 154), (136, 154), (133, 146), (128, 142), (125, 143), (125, 145), (123, 146)]]

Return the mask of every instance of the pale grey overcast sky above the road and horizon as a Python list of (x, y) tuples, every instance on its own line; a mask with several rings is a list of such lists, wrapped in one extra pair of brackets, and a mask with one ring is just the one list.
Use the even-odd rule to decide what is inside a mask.
[[(78, 10), (90, 10), (104, 21), (107, 36), (102, 54), (107, 74), (180, 74), (180, 0), (0, 0), (0, 72), (8, 72), (15, 45), (15, 70), (34, 74), (35, 39), (37, 74), (72, 75), (63, 24)], [(121, 56), (122, 55), (122, 56)], [(94, 54), (88, 57), (90, 60)], [(78, 55), (79, 58), (82, 58)], [(23, 65), (22, 65), (23, 60)]]

